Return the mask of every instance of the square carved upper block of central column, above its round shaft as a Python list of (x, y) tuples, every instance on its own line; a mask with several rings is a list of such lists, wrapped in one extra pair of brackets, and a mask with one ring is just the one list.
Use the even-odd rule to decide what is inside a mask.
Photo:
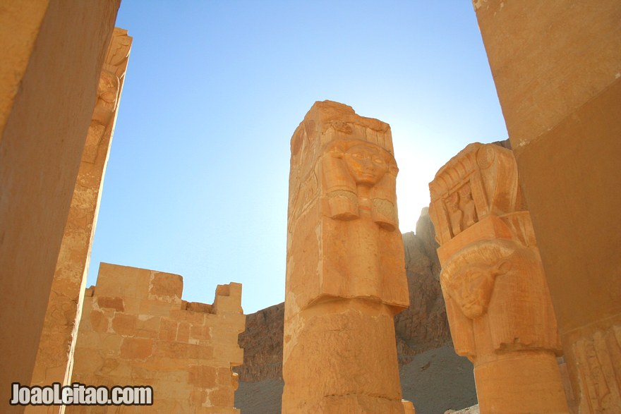
[(304, 286), (296, 295), (303, 308), (336, 297), (402, 308), (408, 295), (402, 254), (394, 254), (403, 245), (390, 127), (343, 107), (322, 102), (291, 140), (288, 261), (296, 265), (287, 267), (295, 269), (288, 283)]

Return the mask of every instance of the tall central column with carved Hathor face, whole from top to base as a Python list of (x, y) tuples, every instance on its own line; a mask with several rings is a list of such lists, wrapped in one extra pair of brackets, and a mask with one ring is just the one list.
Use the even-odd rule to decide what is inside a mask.
[(390, 126), (316, 102), (291, 138), (282, 413), (404, 413)]

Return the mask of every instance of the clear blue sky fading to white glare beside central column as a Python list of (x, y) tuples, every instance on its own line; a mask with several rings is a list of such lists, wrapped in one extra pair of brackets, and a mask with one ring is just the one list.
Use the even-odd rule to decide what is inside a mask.
[(88, 286), (100, 262), (212, 303), (284, 300), (289, 141), (315, 101), (390, 123), (402, 232), (435, 172), (507, 138), (469, 0), (123, 0), (133, 37)]

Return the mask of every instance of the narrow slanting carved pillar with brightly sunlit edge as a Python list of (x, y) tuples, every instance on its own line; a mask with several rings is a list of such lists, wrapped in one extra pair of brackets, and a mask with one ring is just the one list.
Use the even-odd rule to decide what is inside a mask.
[[(130, 48), (127, 30), (115, 28), (100, 75), (97, 103), (56, 262), (32, 385), (65, 385), (71, 379), (92, 237)], [(30, 410), (37, 407), (30, 406), (27, 411)]]

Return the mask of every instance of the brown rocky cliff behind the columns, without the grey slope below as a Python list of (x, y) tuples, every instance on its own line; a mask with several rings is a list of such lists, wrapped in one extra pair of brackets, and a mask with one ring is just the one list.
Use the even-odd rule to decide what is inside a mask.
[[(416, 234), (403, 235), (410, 306), (394, 317), (399, 366), (418, 353), (450, 345), (451, 336), (440, 290), (440, 262), (433, 224), (424, 208)], [(235, 367), (241, 382), (282, 379), (284, 303), (246, 317), (239, 335), (243, 364)]]

